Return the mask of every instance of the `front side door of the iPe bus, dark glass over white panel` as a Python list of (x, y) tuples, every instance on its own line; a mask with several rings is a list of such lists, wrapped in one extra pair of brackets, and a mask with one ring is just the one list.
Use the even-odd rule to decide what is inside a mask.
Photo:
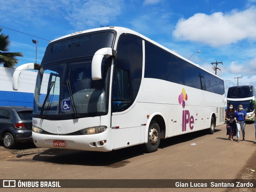
[(114, 148), (140, 143), (140, 130), (146, 121), (140, 117), (136, 98), (142, 80), (142, 38), (122, 34), (117, 44), (112, 84), (112, 130)]

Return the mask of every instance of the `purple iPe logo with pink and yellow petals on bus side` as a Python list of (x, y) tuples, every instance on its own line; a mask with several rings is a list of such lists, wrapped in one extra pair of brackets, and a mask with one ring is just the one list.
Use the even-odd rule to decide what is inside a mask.
[[(182, 108), (185, 108), (185, 100), (188, 100), (188, 95), (186, 94), (185, 89), (183, 88), (181, 91), (181, 94), (179, 95), (179, 104), (182, 103)], [(192, 125), (194, 123), (194, 117), (190, 116), (189, 110), (183, 110), (182, 111), (182, 132), (186, 131), (186, 125), (189, 123), (189, 127), (192, 130), (194, 126)]]

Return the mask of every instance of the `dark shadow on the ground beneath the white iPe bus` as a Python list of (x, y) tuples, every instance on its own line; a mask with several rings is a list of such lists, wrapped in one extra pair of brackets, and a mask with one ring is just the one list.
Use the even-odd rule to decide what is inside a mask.
[[(218, 132), (220, 130), (215, 130)], [(180, 136), (174, 136), (166, 140), (161, 140), (159, 148), (166, 148), (176, 145), (181, 142), (187, 142), (195, 138), (205, 136), (205, 130), (192, 132)], [(72, 164), (85, 166), (108, 166), (112, 168), (119, 168), (126, 166), (130, 158), (144, 155), (141, 145), (131, 146), (112, 152), (88, 152), (78, 150), (65, 149), (47, 149), (40, 152), (33, 157), (34, 161), (42, 161), (54, 164)]]

